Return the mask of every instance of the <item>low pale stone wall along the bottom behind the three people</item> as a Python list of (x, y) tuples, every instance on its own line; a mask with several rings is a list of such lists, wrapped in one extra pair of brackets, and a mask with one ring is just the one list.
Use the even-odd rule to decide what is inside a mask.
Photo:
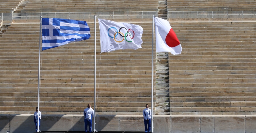
[[(35, 131), (29, 114), (0, 114), (0, 123), (0, 133)], [(155, 133), (255, 133), (256, 115), (154, 115), (153, 125)], [(84, 116), (43, 114), (40, 130), (84, 131)], [(143, 131), (143, 115), (96, 115), (96, 130)]]

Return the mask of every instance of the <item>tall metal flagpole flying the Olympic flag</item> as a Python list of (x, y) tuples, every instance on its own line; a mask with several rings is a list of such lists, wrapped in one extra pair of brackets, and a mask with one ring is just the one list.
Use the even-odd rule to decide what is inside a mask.
[(94, 132), (96, 130), (96, 15), (94, 15)]

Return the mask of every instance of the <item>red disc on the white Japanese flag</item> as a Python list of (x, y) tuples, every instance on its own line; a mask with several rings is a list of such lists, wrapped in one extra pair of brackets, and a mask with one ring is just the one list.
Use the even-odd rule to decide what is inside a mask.
[(165, 38), (165, 42), (169, 47), (176, 47), (178, 45), (180, 45), (180, 41), (178, 40), (175, 32), (172, 30), (172, 28), (170, 29), (169, 33), (167, 34), (166, 38)]

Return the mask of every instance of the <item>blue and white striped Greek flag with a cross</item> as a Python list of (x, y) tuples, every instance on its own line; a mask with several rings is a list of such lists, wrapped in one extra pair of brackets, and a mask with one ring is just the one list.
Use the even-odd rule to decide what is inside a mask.
[(86, 21), (42, 18), (42, 50), (91, 37)]

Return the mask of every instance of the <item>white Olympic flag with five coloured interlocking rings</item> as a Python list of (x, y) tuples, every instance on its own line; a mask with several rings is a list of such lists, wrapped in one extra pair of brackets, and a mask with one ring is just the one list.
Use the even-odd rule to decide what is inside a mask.
[(101, 52), (111, 52), (119, 49), (142, 48), (143, 29), (139, 25), (117, 23), (98, 19), (100, 26)]

